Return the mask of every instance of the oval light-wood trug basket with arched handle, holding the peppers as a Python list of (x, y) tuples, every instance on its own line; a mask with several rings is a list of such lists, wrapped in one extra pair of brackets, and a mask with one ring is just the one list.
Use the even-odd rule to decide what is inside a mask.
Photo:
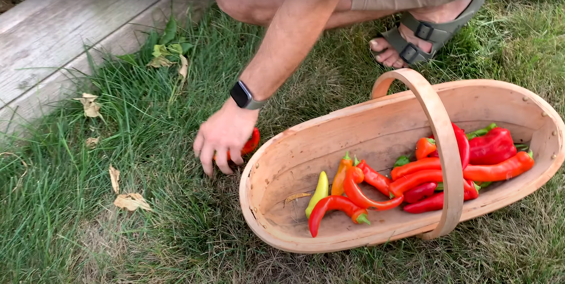
[[(394, 79), (410, 90), (386, 95)], [(509, 129), (516, 143), (530, 143), (533, 168), (463, 202), (463, 174), (451, 121), (466, 132), (493, 122)], [(401, 204), (388, 211), (369, 211), (371, 225), (354, 224), (336, 211), (324, 216), (318, 236), (312, 238), (305, 215), (310, 197), (285, 204), (289, 195), (314, 193), (321, 171), (332, 182), (345, 151), (389, 174), (398, 156), (413, 151), (417, 139), (429, 136), (430, 129), (444, 169), (442, 211), (411, 214), (402, 211)], [(432, 86), (412, 69), (389, 71), (376, 80), (370, 101), (295, 125), (264, 143), (241, 178), (241, 209), (259, 238), (289, 252), (340, 251), (411, 236), (433, 239), (544, 185), (565, 159), (563, 129), (563, 120), (550, 104), (520, 86), (483, 79)], [(363, 192), (375, 200), (386, 199), (370, 187)]]

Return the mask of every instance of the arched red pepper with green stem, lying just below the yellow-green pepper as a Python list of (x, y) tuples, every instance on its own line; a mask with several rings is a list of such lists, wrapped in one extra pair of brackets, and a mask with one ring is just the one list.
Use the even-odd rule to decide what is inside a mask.
[(310, 219), (308, 219), (308, 228), (310, 228), (312, 238), (318, 235), (321, 219), (324, 217), (325, 212), (330, 210), (345, 212), (347, 216), (351, 217), (351, 220), (353, 220), (355, 224), (365, 222), (371, 225), (371, 222), (367, 219), (367, 209), (357, 206), (351, 199), (343, 195), (329, 195), (316, 203), (316, 206), (314, 206), (310, 214)]

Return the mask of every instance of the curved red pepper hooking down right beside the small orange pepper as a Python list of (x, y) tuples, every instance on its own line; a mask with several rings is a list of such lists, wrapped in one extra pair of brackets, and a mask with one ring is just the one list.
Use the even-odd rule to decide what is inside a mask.
[[(370, 210), (383, 211), (397, 207), (404, 200), (404, 195), (383, 202), (373, 201), (363, 194), (357, 183), (363, 182), (363, 170), (358, 167), (351, 167), (347, 169), (344, 182), (345, 194), (353, 203), (361, 208)], [(392, 184), (392, 183), (390, 183)]]

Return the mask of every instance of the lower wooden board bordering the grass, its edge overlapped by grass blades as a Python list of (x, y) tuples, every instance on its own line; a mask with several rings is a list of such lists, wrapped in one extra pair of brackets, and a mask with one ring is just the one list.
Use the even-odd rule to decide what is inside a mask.
[[(163, 29), (171, 15), (171, 2), (173, 5), (173, 15), (179, 19), (182, 25), (188, 11), (189, 1), (187, 0), (159, 0), (146, 11), (134, 18), (130, 23), (115, 30), (104, 38), (97, 45), (90, 49), (95, 64), (102, 62), (101, 50), (112, 54), (127, 54), (139, 50), (140, 43), (144, 42), (145, 34), (136, 31), (147, 31), (152, 27)], [(49, 113), (56, 102), (66, 98), (72, 93), (73, 84), (69, 80), (72, 73), (69, 69), (76, 69), (86, 74), (90, 74), (90, 68), (86, 53), (76, 56), (68, 64), (64, 64), (64, 69), (48, 76), (36, 88), (28, 90), (20, 97), (14, 99), (5, 108), (0, 110), (0, 132), (14, 136), (25, 136), (25, 130), (20, 124), (33, 123), (34, 119)], [(75, 73), (76, 75), (76, 73)], [(82, 75), (77, 75), (82, 77)], [(71, 91), (69, 91), (69, 89)], [(76, 97), (76, 95), (75, 95)], [(0, 139), (2, 139), (0, 137)]]

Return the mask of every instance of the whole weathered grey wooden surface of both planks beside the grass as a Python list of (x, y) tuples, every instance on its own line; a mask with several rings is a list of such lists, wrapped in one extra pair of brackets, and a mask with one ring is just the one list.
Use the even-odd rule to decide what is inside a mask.
[(27, 0), (0, 15), (0, 132), (25, 134), (20, 124), (72, 94), (68, 70), (90, 73), (86, 47), (97, 64), (99, 50), (138, 50), (141, 31), (164, 28), (171, 3), (185, 19), (187, 0)]

